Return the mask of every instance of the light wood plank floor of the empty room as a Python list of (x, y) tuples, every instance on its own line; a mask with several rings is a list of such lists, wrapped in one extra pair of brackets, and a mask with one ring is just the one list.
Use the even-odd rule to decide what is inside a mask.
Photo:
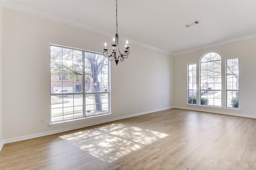
[(5, 144), (0, 169), (256, 170), (256, 119), (168, 109)]

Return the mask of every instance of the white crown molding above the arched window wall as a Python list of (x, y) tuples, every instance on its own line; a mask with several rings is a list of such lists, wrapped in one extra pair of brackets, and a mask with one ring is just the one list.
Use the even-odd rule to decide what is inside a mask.
[(256, 38), (256, 34), (248, 35), (248, 36), (244, 36), (244, 37), (239, 37), (239, 38), (235, 38), (235, 39), (230, 39), (230, 40), (227, 40), (227, 41), (222, 41), (222, 42), (214, 43), (214, 44), (210, 44), (210, 45), (205, 45), (205, 46), (202, 46), (202, 47), (198, 47), (198, 48), (194, 48), (194, 49), (190, 49), (190, 50), (186, 50), (186, 51), (182, 51), (182, 52), (178, 52), (178, 53), (173, 53), (173, 56), (182, 55), (182, 54), (186, 54), (186, 53), (191, 53), (191, 52), (194, 52), (194, 51), (208, 49), (208, 48), (212, 48), (212, 47), (218, 47), (220, 45), (226, 45), (226, 44), (235, 43), (235, 42), (238, 42), (238, 41), (244, 41), (244, 40), (252, 39), (252, 38)]

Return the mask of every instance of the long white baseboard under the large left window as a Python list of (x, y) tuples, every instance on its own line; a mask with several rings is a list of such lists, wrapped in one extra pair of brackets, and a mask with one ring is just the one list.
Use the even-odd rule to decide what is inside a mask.
[(23, 140), (26, 140), (26, 139), (32, 139), (32, 138), (42, 137), (42, 136), (46, 136), (46, 135), (52, 135), (52, 134), (56, 134), (56, 133), (71, 131), (71, 130), (80, 129), (80, 128), (84, 128), (84, 127), (89, 127), (89, 126), (94, 126), (94, 125), (99, 125), (99, 124), (102, 124), (102, 123), (107, 123), (107, 122), (111, 122), (111, 121), (116, 121), (116, 120), (120, 120), (120, 119), (125, 119), (125, 118), (129, 118), (129, 117), (144, 115), (144, 114), (153, 113), (153, 112), (156, 112), (156, 111), (167, 110), (167, 109), (172, 109), (172, 108), (174, 108), (174, 107), (166, 107), (166, 108), (162, 108), (162, 109), (156, 109), (156, 110), (145, 111), (145, 112), (141, 112), (141, 113), (135, 113), (135, 114), (131, 114), (131, 115), (116, 117), (116, 118), (112, 118), (112, 119), (106, 119), (104, 121), (97, 121), (97, 122), (94, 122), (94, 123), (87, 123), (87, 124), (83, 124), (83, 125), (79, 125), (79, 126), (68, 127), (68, 128), (58, 129), (58, 130), (54, 130), (54, 131), (48, 131), (48, 132), (37, 133), (37, 134), (32, 134), (32, 135), (26, 135), (26, 136), (22, 136), (22, 137), (15, 137), (15, 138), (11, 138), (11, 139), (4, 139), (4, 141), (2, 141), (1, 144), (4, 145), (4, 143), (12, 143), (12, 142), (17, 142), (17, 141), (23, 141)]

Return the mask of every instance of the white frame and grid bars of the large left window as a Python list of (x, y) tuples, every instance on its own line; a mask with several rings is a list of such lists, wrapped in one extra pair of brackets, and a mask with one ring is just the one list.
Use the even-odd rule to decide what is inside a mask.
[[(72, 82), (73, 82), (73, 86), (72, 86), (72, 88), (73, 88), (73, 92), (68, 92), (68, 93), (65, 93), (65, 95), (73, 95), (73, 101), (74, 101), (74, 95), (82, 95), (82, 116), (80, 116), (80, 117), (75, 117), (74, 116), (74, 114), (75, 114), (75, 112), (74, 112), (74, 107), (76, 107), (76, 106), (74, 106), (74, 104), (73, 104), (73, 118), (70, 118), (70, 119), (64, 119), (63, 117), (64, 117), (64, 110), (63, 110), (63, 108), (64, 108), (64, 102), (62, 103), (62, 107), (58, 107), (58, 108), (62, 108), (62, 119), (61, 120), (56, 120), (56, 121), (54, 121), (53, 119), (52, 119), (52, 109), (53, 109), (53, 107), (52, 107), (52, 104), (51, 104), (51, 107), (50, 107), (50, 124), (55, 124), (55, 123), (63, 123), (63, 122), (66, 122), (66, 121), (74, 121), (74, 120), (79, 120), (79, 119), (84, 119), (84, 118), (88, 118), (88, 117), (96, 117), (96, 116), (104, 116), (104, 115), (108, 115), (108, 114), (111, 114), (110, 113), (110, 62), (109, 62), (109, 60), (108, 60), (108, 58), (106, 58), (106, 57), (104, 57), (103, 55), (102, 55), (102, 53), (97, 53), (97, 52), (93, 52), (93, 51), (88, 51), (88, 50), (83, 50), (83, 49), (77, 49), (77, 48), (73, 48), (73, 47), (66, 47), (66, 46), (62, 46), (62, 45), (55, 45), (55, 44), (50, 44), (50, 101), (52, 102), (52, 96), (62, 96), (62, 99), (64, 100), (64, 94), (56, 94), (56, 93), (54, 93), (54, 90), (52, 90), (52, 58), (54, 58), (54, 57), (52, 57), (52, 52), (51, 52), (51, 46), (54, 46), (54, 47), (59, 47), (59, 48), (61, 48), (62, 50), (63, 50), (63, 48), (65, 48), (65, 49), (71, 49), (71, 50), (77, 50), (77, 51), (82, 51), (82, 61), (80, 61), (80, 62), (82, 62), (82, 82), (81, 82), (81, 89), (82, 89), (82, 92), (76, 92), (76, 86), (77, 86), (77, 84), (76, 84), (76, 82), (78, 82), (79, 80), (76, 78), (74, 78), (74, 76), (72, 77), (73, 79), (72, 79)], [(106, 59), (104, 59), (104, 61), (107, 63), (107, 64), (105, 64), (106, 66), (107, 66), (107, 71), (106, 71), (106, 73), (105, 74), (107, 74), (107, 76), (108, 76), (108, 80), (107, 80), (107, 86), (108, 86), (108, 90), (107, 91), (99, 91), (99, 92), (86, 92), (86, 80), (85, 80), (85, 53), (93, 53), (93, 54), (97, 54), (97, 55), (102, 55), (102, 57), (103, 58), (106, 58)], [(73, 57), (73, 53), (72, 53), (72, 57)], [(102, 58), (102, 59), (103, 59)], [(59, 59), (61, 59), (61, 61), (62, 61), (62, 63), (63, 63), (63, 53), (61, 54), (61, 58), (59, 58)], [(73, 62), (74, 61), (76, 61), (76, 60), (74, 60), (73, 58), (72, 58), (72, 64), (73, 64)], [(62, 67), (63, 67), (63, 64), (62, 64)], [(62, 72), (62, 74), (63, 74), (63, 68), (62, 68), (62, 70), (59, 70), (59, 71), (61, 71)], [(74, 74), (74, 70), (72, 70), (72, 74)], [(59, 80), (59, 82), (62, 82), (62, 89), (64, 89), (64, 86), (63, 86), (63, 82), (64, 82), (64, 80), (62, 79), (62, 76), (60, 76), (61, 77), (61, 80)], [(59, 78), (57, 78), (57, 79), (59, 79)], [(77, 81), (78, 80), (78, 81)], [(57, 80), (58, 81), (58, 80)], [(100, 88), (101, 89), (101, 88)], [(94, 114), (94, 115), (86, 115), (86, 94), (101, 94), (101, 96), (102, 96), (102, 94), (107, 94), (107, 109), (108, 109), (108, 111), (107, 112), (104, 112), (104, 113), (97, 113), (97, 114)], [(63, 101), (62, 100), (62, 101)], [(94, 100), (94, 98), (93, 98), (93, 100)], [(102, 101), (102, 100), (101, 100)], [(101, 105), (102, 105), (102, 103), (101, 103)], [(95, 109), (95, 108), (94, 108)]]

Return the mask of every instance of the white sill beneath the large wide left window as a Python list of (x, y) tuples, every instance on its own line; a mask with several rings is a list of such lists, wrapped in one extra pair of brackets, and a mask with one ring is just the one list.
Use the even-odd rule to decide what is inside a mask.
[(66, 125), (66, 124), (70, 124), (70, 123), (77, 123), (77, 122), (81, 122), (81, 121), (86, 121), (88, 119), (96, 119), (98, 117), (108, 117), (108, 116), (111, 116), (111, 115), (112, 115), (111, 113), (106, 113), (106, 114), (95, 115), (95, 116), (90, 116), (90, 117), (82, 117), (82, 118), (79, 118), (79, 119), (51, 122), (51, 123), (49, 123), (49, 126), (50, 127), (55, 127), (55, 126)]

